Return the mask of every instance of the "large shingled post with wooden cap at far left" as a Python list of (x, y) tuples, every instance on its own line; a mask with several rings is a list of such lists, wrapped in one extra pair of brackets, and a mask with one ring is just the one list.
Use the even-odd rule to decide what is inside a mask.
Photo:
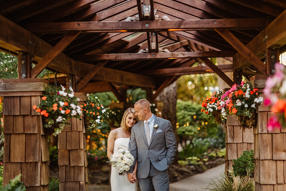
[(40, 78), (0, 80), (0, 96), (4, 97), (3, 186), (22, 174), (27, 191), (49, 190), (48, 139), (42, 116), (33, 110), (47, 84)]

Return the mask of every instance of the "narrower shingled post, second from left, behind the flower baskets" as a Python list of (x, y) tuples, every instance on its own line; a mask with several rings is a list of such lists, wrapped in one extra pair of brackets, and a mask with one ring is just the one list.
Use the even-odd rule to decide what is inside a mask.
[[(87, 100), (85, 93), (75, 93), (80, 104)], [(88, 172), (86, 155), (86, 129), (84, 117), (72, 118), (71, 126), (58, 135), (59, 190), (87, 191)]]

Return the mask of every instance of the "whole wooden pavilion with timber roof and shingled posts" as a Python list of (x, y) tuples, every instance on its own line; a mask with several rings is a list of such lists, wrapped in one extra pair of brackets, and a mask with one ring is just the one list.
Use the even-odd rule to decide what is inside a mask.
[[(124, 102), (126, 89), (135, 87), (154, 100), (179, 76), (210, 72), (229, 86), (244, 75), (263, 88), (286, 51), (285, 8), (283, 0), (1, 0), (0, 50), (19, 58), (19, 79), (0, 82), (3, 185), (21, 173), (27, 190), (48, 190), (46, 135), (31, 109), (48, 83), (36, 78), (43, 69), (60, 73), (57, 81), (81, 101), (85, 93), (112, 91)], [(204, 64), (192, 67), (196, 62)], [(269, 111), (258, 108), (258, 125), (249, 132), (229, 118), (226, 164), (254, 148), (256, 190), (282, 191), (286, 131), (267, 131)], [(84, 136), (76, 120), (59, 136), (60, 190), (87, 190)]]

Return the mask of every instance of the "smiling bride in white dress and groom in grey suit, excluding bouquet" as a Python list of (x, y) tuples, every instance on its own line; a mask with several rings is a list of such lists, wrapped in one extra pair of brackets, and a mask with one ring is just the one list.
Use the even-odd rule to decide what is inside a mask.
[(141, 99), (123, 115), (121, 127), (110, 131), (107, 155), (117, 149), (130, 151), (134, 163), (128, 172), (118, 176), (112, 167), (112, 191), (168, 191), (168, 168), (177, 151), (176, 138), (170, 121), (151, 113), (150, 103)]

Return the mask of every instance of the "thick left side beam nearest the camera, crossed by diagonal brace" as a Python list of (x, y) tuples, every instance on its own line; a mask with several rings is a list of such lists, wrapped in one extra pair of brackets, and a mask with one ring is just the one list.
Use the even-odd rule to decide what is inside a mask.
[[(32, 50), (33, 61), (39, 62), (53, 48), (39, 37), (2, 15), (0, 15), (0, 23), (2, 27), (0, 30), (0, 46), (7, 50), (13, 52), (31, 52)], [(52, 61), (49, 67), (66, 74), (74, 74), (75, 72), (74, 61), (62, 53)]]

